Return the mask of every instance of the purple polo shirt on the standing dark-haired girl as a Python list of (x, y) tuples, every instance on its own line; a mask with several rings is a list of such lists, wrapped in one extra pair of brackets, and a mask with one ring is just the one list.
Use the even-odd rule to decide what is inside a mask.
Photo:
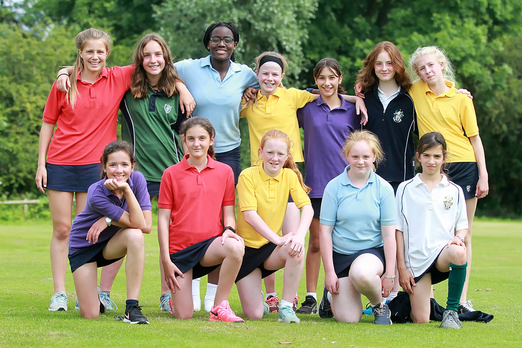
[(334, 110), (319, 96), (297, 111), (304, 130), (304, 182), (312, 188), (310, 198), (322, 198), (326, 184), (345, 170), (348, 162), (342, 147), (350, 133), (361, 128), (355, 105), (337, 95), (342, 104)]

